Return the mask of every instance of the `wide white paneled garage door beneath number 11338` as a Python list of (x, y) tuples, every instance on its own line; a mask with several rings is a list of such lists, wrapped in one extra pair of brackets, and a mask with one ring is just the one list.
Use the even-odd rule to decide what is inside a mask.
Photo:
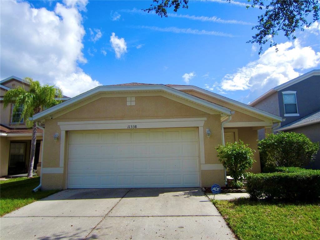
[(198, 187), (197, 128), (69, 132), (68, 188)]

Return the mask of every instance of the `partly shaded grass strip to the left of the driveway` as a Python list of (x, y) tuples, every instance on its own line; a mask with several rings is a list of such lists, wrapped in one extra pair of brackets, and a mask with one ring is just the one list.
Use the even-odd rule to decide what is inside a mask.
[(0, 216), (49, 196), (59, 190), (32, 192), (40, 183), (40, 177), (12, 178), (0, 181)]

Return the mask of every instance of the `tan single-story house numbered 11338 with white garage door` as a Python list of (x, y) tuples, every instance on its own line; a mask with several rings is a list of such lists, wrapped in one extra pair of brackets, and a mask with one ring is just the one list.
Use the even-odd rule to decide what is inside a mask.
[(192, 85), (98, 86), (32, 117), (45, 124), (41, 188), (224, 186), (216, 147), (282, 117)]

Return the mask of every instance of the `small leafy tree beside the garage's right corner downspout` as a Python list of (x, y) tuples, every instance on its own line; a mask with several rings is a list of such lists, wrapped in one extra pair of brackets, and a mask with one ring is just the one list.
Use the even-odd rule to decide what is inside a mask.
[(230, 176), (233, 178), (233, 185), (235, 187), (243, 186), (241, 180), (247, 175), (245, 170), (251, 168), (255, 162), (254, 150), (241, 140), (235, 143), (227, 142), (225, 146), (219, 145), (216, 149), (219, 161), (225, 168), (228, 168)]

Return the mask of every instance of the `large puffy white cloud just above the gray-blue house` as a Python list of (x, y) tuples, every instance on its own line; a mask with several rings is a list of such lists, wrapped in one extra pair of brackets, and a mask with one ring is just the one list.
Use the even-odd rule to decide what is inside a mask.
[(234, 74), (227, 74), (221, 88), (227, 91), (248, 90), (246, 97), (258, 97), (269, 89), (301, 75), (299, 70), (315, 68), (320, 64), (320, 52), (300, 46), (299, 40), (270, 47), (256, 61), (248, 63)]

